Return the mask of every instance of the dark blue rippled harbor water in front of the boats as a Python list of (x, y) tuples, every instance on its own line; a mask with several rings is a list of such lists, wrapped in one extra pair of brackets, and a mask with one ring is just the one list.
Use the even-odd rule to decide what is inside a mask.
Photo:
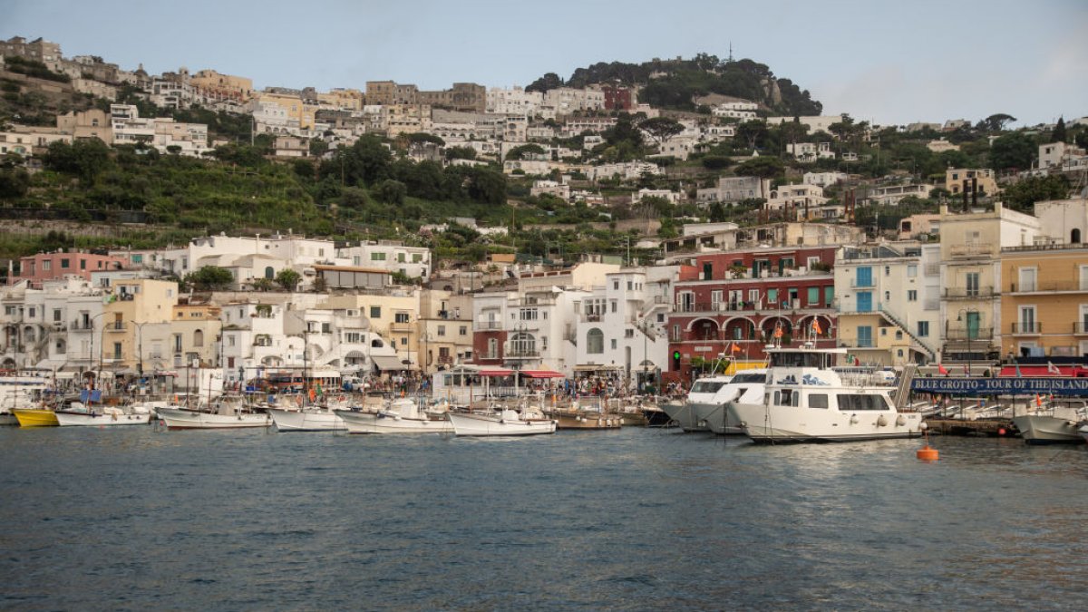
[(0, 429), (0, 609), (1083, 608), (1088, 451)]

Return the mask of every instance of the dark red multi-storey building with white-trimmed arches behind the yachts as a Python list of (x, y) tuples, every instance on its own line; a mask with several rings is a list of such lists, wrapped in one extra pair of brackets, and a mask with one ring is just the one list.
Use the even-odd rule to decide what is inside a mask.
[(815, 334), (817, 346), (836, 346), (834, 252), (761, 247), (693, 257), (694, 270), (673, 289), (671, 378), (690, 381), (700, 358), (764, 359), (779, 328), (784, 345)]

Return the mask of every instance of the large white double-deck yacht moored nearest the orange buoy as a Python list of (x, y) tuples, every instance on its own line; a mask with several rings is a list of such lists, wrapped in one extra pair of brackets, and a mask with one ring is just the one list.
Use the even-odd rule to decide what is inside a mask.
[(731, 402), (731, 418), (756, 442), (914, 438), (922, 415), (900, 413), (882, 372), (834, 369), (843, 348), (771, 347), (761, 402)]

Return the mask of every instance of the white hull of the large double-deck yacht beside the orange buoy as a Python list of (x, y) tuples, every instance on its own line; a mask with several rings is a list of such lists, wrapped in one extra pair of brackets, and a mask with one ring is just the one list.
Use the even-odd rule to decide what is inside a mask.
[(846, 442), (922, 436), (918, 413), (740, 403), (729, 404), (729, 412), (754, 442)]

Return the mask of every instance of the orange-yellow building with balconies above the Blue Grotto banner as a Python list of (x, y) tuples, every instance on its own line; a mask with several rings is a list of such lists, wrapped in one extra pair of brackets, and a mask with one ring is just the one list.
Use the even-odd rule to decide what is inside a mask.
[(1088, 353), (1088, 248), (1084, 244), (1001, 249), (1004, 356)]

